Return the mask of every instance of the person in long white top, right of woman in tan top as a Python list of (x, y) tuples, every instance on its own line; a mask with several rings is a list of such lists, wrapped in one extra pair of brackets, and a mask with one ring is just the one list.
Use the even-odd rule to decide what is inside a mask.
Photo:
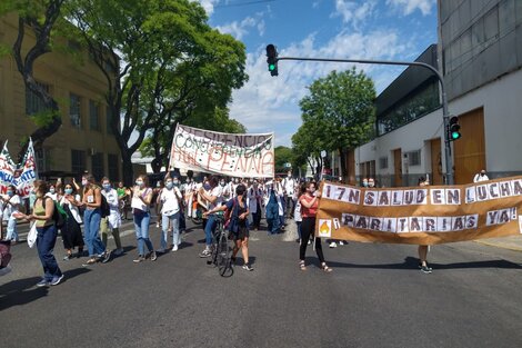
[(121, 247), (120, 239), (120, 226), (121, 226), (121, 215), (120, 215), (120, 205), (118, 200), (118, 192), (112, 188), (111, 181), (109, 178), (101, 179), (101, 195), (106, 197), (107, 203), (109, 205), (109, 216), (101, 218), (100, 222), (100, 232), (101, 240), (106, 247), (108, 246), (108, 235), (111, 230), (112, 238), (114, 238), (116, 250), (114, 255), (120, 256), (123, 253), (123, 248)]

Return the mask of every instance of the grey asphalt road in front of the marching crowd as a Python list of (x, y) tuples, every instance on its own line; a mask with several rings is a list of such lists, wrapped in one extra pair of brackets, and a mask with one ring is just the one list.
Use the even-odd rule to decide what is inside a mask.
[[(155, 227), (151, 235), (158, 246)], [(221, 278), (198, 257), (202, 238), (193, 228), (178, 252), (134, 265), (128, 235), (126, 255), (89, 268), (62, 261), (59, 241), (66, 279), (51, 288), (34, 287), (37, 251), (14, 246), (13, 270), (0, 278), (1, 346), (522, 347), (522, 252), (436, 246), (424, 275), (414, 246), (324, 245), (334, 269), (325, 274), (310, 248), (301, 271), (298, 243), (260, 231), (254, 271)]]

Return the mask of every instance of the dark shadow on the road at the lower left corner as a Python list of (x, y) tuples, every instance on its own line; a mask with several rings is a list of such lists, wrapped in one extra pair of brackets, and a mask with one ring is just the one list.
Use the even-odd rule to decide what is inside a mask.
[[(76, 268), (64, 271), (63, 282), (76, 276), (89, 272), (86, 268)], [(30, 277), (17, 279), (0, 286), (0, 311), (9, 307), (26, 305), (47, 296), (50, 291), (48, 287), (37, 288), (36, 285), (41, 277)]]

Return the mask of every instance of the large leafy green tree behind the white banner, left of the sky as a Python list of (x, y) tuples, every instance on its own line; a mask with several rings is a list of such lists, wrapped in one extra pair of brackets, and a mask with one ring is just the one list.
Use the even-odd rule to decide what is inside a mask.
[[(203, 97), (224, 107), (231, 90), (247, 80), (244, 46), (212, 30), (197, 2), (76, 0), (69, 16), (106, 76), (112, 115), (120, 116), (111, 128), (127, 183), (133, 177), (131, 156), (147, 135), (157, 139), (165, 129), (173, 135), (173, 126)], [(161, 151), (165, 148), (154, 147), (155, 167)]]

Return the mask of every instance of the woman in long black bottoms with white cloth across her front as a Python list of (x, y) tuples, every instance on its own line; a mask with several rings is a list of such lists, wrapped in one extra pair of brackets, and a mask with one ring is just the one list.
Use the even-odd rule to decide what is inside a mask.
[(60, 206), (67, 212), (66, 225), (61, 229), (61, 237), (63, 240), (63, 248), (66, 249), (66, 256), (63, 260), (70, 260), (72, 258), (72, 250), (78, 247), (77, 257), (83, 255), (83, 237), (81, 235), (81, 216), (78, 207), (81, 205), (80, 195), (74, 193), (72, 185), (67, 183), (63, 192), (63, 197), (60, 200)]

